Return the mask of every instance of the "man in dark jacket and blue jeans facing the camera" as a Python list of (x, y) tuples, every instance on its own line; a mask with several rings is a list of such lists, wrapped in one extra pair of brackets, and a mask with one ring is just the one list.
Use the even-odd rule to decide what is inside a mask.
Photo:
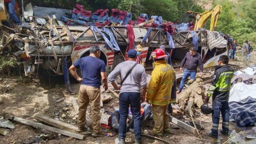
[(203, 75), (203, 63), (202, 63), (201, 55), (196, 52), (195, 47), (189, 48), (189, 52), (187, 52), (185, 57), (183, 58), (180, 65), (181, 72), (183, 70), (184, 65), (185, 65), (185, 69), (182, 75), (182, 79), (181, 79), (177, 94), (179, 94), (182, 91), (185, 85), (185, 81), (187, 80), (188, 77), (190, 77), (190, 79), (193, 79), (193, 80), (196, 79), (196, 71), (198, 66), (200, 68), (200, 76)]

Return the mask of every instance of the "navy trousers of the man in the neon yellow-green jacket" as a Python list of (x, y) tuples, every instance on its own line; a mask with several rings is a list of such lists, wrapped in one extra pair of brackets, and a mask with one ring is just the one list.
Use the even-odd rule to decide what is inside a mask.
[(229, 106), (228, 100), (213, 100), (212, 103), (212, 129), (211, 133), (214, 136), (218, 135), (218, 127), (220, 122), (220, 113), (222, 116), (222, 130), (228, 132), (229, 125)]

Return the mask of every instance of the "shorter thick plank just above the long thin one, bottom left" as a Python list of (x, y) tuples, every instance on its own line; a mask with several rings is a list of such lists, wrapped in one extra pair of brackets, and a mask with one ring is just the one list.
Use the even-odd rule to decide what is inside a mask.
[(74, 132), (76, 133), (77, 130), (78, 130), (78, 127), (72, 125), (72, 124), (69, 124), (69, 123), (64, 123), (60, 120), (55, 120), (53, 118), (50, 118), (50, 117), (47, 117), (47, 116), (44, 116), (40, 113), (35, 113), (33, 115), (33, 118), (35, 118), (36, 120), (40, 120), (44, 123), (48, 123), (49, 125), (52, 125), (54, 127), (57, 127), (57, 128), (60, 128), (62, 130), (67, 130), (67, 131), (71, 131), (71, 132)]

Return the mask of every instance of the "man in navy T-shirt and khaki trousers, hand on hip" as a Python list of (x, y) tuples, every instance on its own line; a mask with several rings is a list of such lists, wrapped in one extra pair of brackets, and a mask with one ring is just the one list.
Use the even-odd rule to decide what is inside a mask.
[[(90, 103), (91, 119), (93, 124), (93, 137), (105, 137), (101, 131), (100, 99), (101, 99), (101, 80), (104, 82), (105, 90), (108, 89), (108, 80), (105, 70), (105, 63), (99, 59), (101, 54), (100, 48), (93, 45), (90, 48), (90, 55), (80, 58), (70, 66), (70, 73), (81, 82), (79, 89), (79, 110), (77, 117), (78, 130), (80, 132), (87, 130), (85, 126), (86, 110)], [(76, 69), (81, 69), (82, 78), (77, 75)]]

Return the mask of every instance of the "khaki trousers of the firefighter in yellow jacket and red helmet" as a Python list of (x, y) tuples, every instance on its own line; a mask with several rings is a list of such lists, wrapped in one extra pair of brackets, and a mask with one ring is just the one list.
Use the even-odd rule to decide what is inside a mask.
[(163, 131), (169, 132), (169, 116), (168, 105), (156, 106), (152, 104), (153, 120), (154, 120), (154, 134), (161, 135)]

